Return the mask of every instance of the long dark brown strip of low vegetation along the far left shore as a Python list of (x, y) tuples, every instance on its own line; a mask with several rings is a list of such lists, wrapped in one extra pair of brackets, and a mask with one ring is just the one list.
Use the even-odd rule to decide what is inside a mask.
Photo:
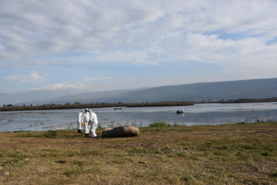
[(84, 109), (84, 108), (105, 108), (105, 107), (170, 107), (188, 106), (188, 102), (159, 102), (159, 103), (97, 103), (97, 104), (73, 104), (69, 105), (40, 105), (40, 106), (5, 106), (0, 107), (0, 112), (24, 111), (24, 110), (48, 110), (48, 109)]

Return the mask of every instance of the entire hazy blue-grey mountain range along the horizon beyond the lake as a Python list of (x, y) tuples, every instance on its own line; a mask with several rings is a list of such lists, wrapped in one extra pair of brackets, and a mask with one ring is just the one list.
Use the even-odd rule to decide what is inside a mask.
[[(98, 91), (74, 94), (73, 89), (66, 89), (69, 94), (55, 94), (46, 90), (39, 91), (39, 94), (48, 94), (38, 96), (38, 91), (29, 91), (28, 100), (21, 101), (17, 97), (17, 105), (39, 104), (65, 104), (75, 103), (141, 103), (141, 102), (160, 102), (160, 101), (199, 101), (199, 100), (231, 100), (239, 98), (271, 98), (277, 96), (277, 78), (256, 79), (256, 80), (236, 80), (227, 82), (202, 82), (186, 85), (168, 85), (162, 87), (145, 87), (142, 89), (125, 89), (116, 91)], [(45, 91), (45, 92), (44, 92)], [(78, 91), (78, 89), (77, 89)], [(26, 94), (18, 94), (21, 100)], [(49, 97), (51, 96), (51, 97)], [(9, 94), (0, 94), (0, 102), (3, 99), (10, 98)], [(33, 99), (32, 99), (33, 98)], [(7, 103), (12, 103), (5, 101)], [(3, 105), (3, 103), (1, 103)]]

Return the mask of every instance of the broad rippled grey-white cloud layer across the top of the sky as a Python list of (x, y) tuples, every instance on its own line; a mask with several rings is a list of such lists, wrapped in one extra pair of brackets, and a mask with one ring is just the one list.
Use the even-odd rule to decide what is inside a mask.
[(0, 42), (6, 49), (0, 57), (31, 58), (67, 49), (113, 52), (130, 41), (134, 54), (160, 39), (215, 30), (268, 34), (277, 29), (276, 9), (271, 0), (1, 1)]

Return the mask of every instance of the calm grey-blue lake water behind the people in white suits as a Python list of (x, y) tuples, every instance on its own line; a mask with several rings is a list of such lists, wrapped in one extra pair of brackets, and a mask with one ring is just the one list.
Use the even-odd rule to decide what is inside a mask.
[[(89, 107), (88, 107), (89, 108)], [(152, 121), (176, 121), (181, 125), (220, 125), (253, 123), (257, 119), (277, 120), (277, 103), (197, 104), (186, 107), (114, 107), (91, 109), (98, 116), (101, 127), (136, 125), (148, 126)], [(183, 109), (184, 114), (176, 114)], [(0, 112), (0, 132), (46, 131), (74, 129), (80, 109)]]

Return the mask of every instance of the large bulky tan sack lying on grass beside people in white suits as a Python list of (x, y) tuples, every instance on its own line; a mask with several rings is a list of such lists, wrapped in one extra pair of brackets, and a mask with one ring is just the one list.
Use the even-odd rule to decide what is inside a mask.
[(139, 128), (135, 126), (108, 127), (102, 132), (103, 137), (139, 136)]

